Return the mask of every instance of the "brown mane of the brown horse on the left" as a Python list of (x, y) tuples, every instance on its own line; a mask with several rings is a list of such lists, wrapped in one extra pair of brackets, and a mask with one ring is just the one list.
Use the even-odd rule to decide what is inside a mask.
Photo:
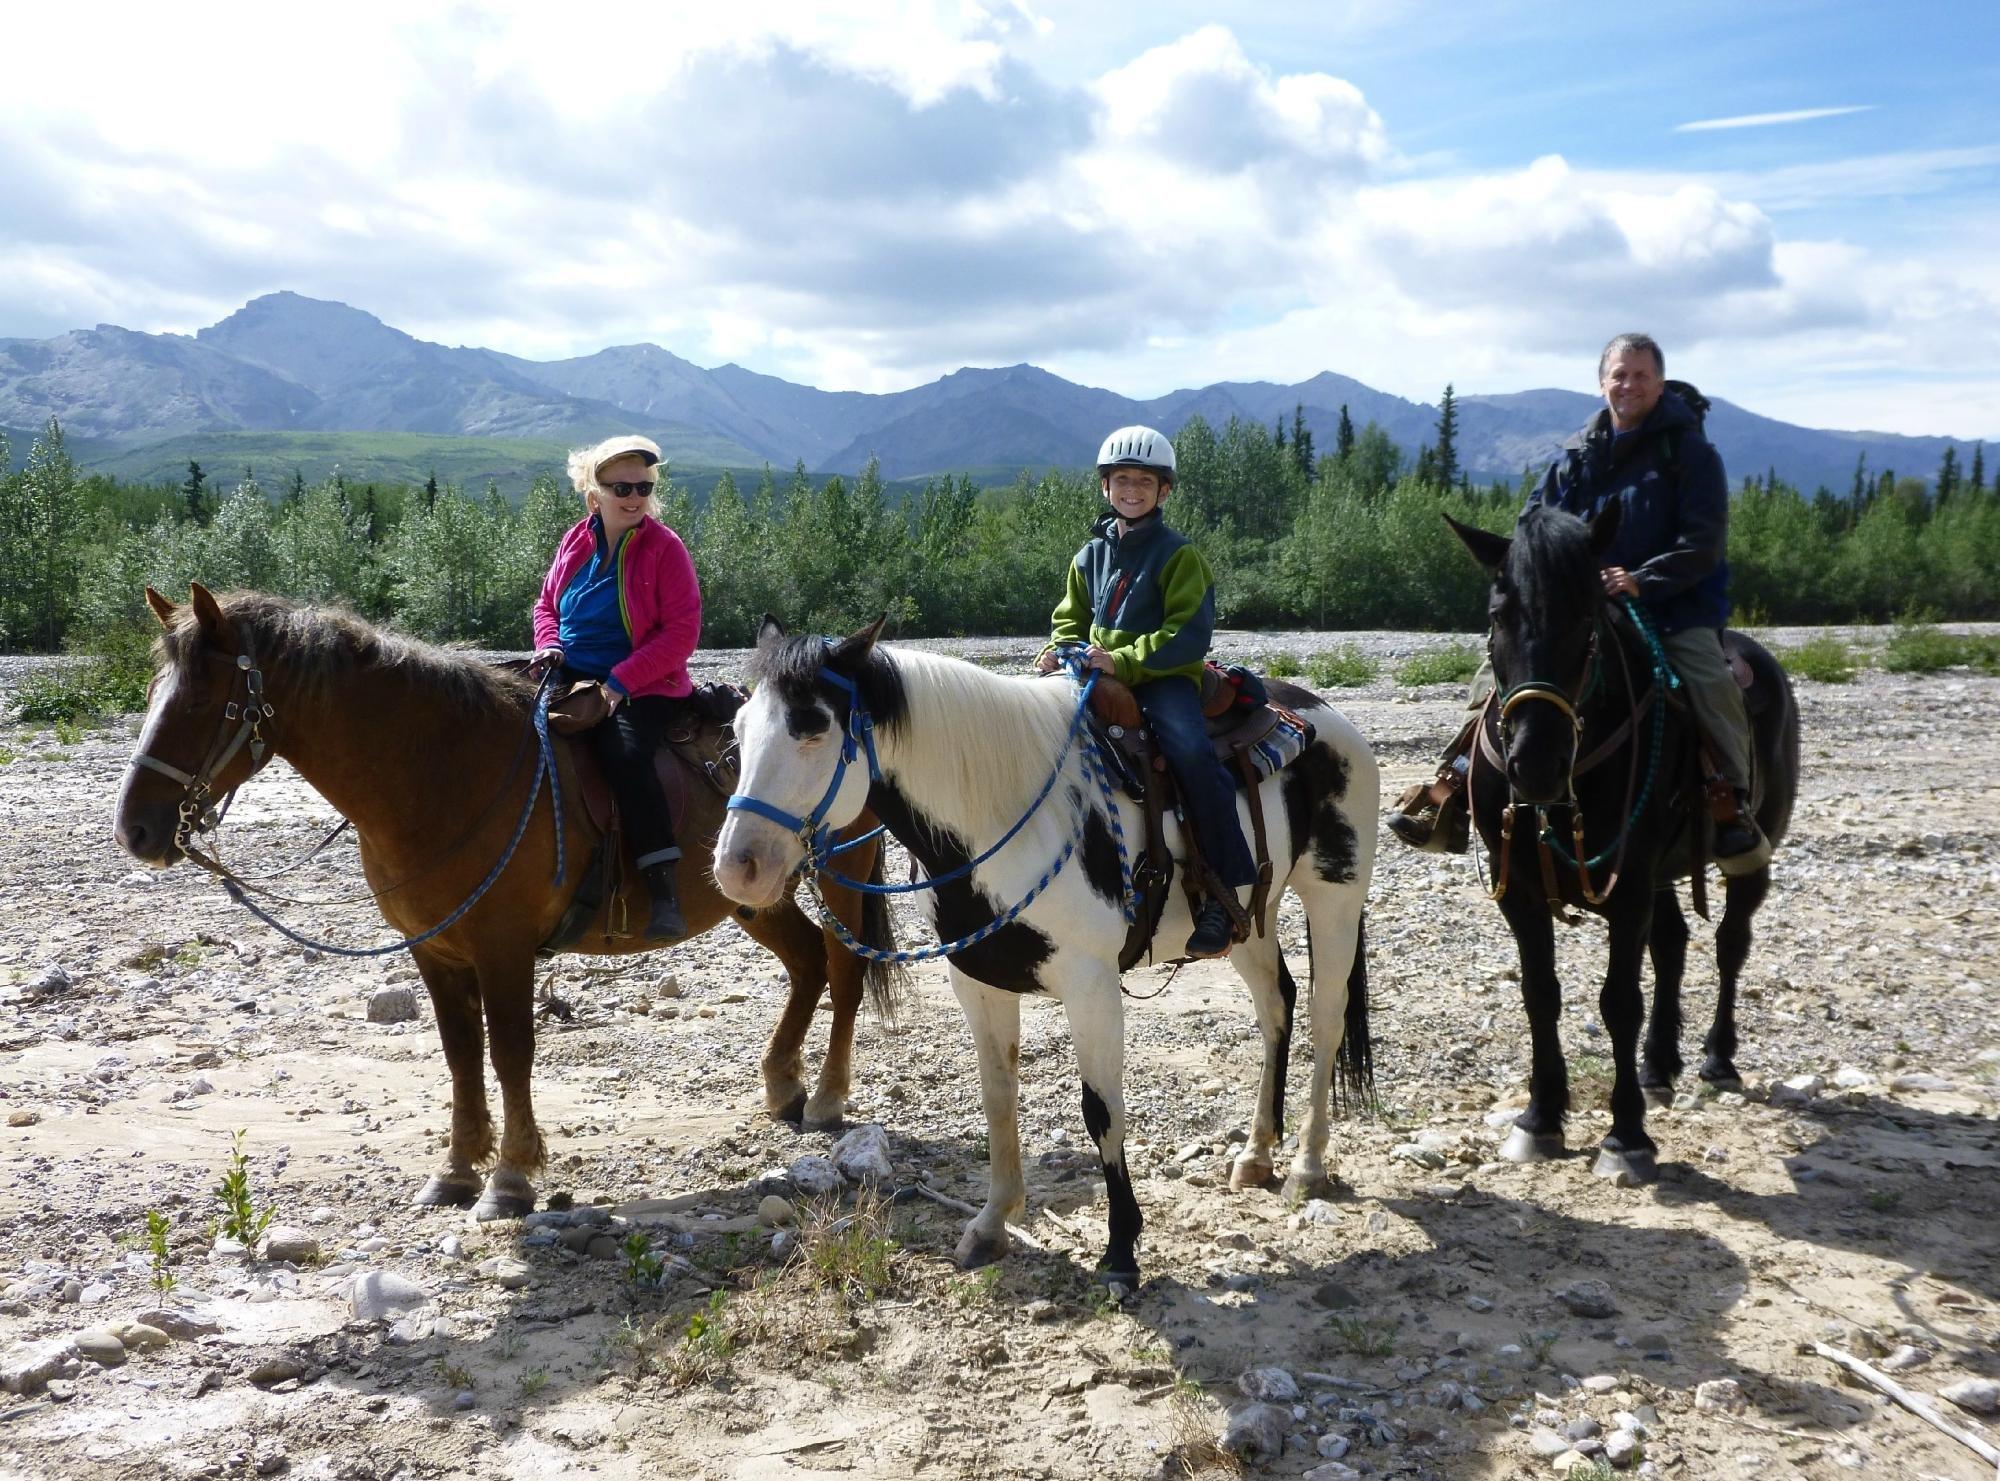
[[(350, 674), (394, 670), (468, 720), (520, 714), (534, 698), (534, 684), (516, 672), (386, 632), (342, 606), (312, 606), (252, 590), (222, 592), (216, 602), (256, 654), (258, 666), (282, 670), (286, 684), (306, 692), (324, 690)], [(160, 650), (170, 664), (186, 670), (200, 646), (202, 628), (190, 602), (160, 636)]]

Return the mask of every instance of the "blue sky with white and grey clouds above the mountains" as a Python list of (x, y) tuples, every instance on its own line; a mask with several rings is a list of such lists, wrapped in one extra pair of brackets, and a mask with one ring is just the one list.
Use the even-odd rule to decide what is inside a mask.
[(94, 66), (10, 74), (0, 334), (294, 288), (832, 388), (1434, 398), (1588, 390), (1642, 326), (1752, 410), (2000, 436), (1992, 0), (224, 2), (16, 40)]

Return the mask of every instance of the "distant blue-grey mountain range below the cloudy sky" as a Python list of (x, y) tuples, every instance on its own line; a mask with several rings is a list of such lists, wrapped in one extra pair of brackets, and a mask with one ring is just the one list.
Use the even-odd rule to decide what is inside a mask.
[[(1440, 380), (1450, 370), (1440, 368)], [(232, 466), (256, 456), (290, 468), (288, 448), (376, 436), (422, 470), (424, 438), (456, 438), (486, 462), (550, 456), (640, 428), (680, 468), (856, 472), (870, 456), (890, 478), (944, 472), (1010, 476), (1016, 468), (1082, 466), (1114, 426), (1146, 422), (1172, 434), (1192, 416), (1222, 426), (1242, 416), (1266, 426), (1304, 406), (1318, 448), (1330, 448), (1346, 406), (1354, 426), (1378, 422), (1406, 452), (1436, 438), (1438, 408), (1390, 396), (1326, 370), (1296, 386), (1218, 382), (1132, 400), (1078, 386), (1032, 364), (954, 370), (888, 394), (816, 390), (736, 364), (704, 370), (658, 344), (622, 344), (576, 360), (522, 360), (498, 350), (430, 344), (338, 302), (274, 292), (220, 324), (142, 334), (100, 324), (50, 340), (0, 340), (0, 428), (14, 456), (58, 416), (88, 466), (126, 476), (202, 458)], [(1542, 466), (1598, 406), (1570, 390), (1458, 398), (1458, 454), (1474, 478), (1512, 478)], [(1708, 432), (1732, 476), (1776, 468), (1804, 488), (1850, 486), (1854, 462), (1930, 478), (1942, 436), (1830, 432), (1758, 416), (1716, 398)], [(468, 438), (476, 442), (466, 442)], [(506, 444), (532, 444), (530, 458)], [(442, 448), (444, 444), (436, 444)], [(526, 452), (526, 446), (522, 448)], [(304, 456), (304, 454), (302, 454)], [(436, 462), (436, 458), (434, 458)], [(278, 468), (272, 468), (278, 464)], [(454, 464), (458, 466), (458, 464)], [(384, 474), (388, 476), (388, 474)]]

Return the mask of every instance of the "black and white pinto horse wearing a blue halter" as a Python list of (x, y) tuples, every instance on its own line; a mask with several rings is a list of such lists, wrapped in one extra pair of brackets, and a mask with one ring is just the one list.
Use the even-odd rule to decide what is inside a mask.
[[(1068, 1015), (1084, 1127), (1104, 1163), (1110, 1243), (1098, 1279), (1136, 1289), (1140, 1211), (1124, 1161), (1122, 873), (1104, 795), (1080, 751), (1066, 749), (1076, 688), (1060, 676), (1000, 676), (956, 658), (876, 646), (878, 632), (880, 622), (828, 642), (786, 636), (766, 618), (750, 662), (752, 696), (736, 716), (742, 779), (732, 803), (738, 811), (716, 839), (716, 885), (744, 905), (770, 905), (792, 889), (812, 831), (788, 829), (774, 815), (840, 829), (864, 807), (910, 851), (916, 873), (944, 879), (1006, 839), (1064, 757), (1048, 803), (1018, 835), (970, 875), (920, 895), (940, 941), (960, 941), (1044, 883), (1064, 845), (1078, 841), (1070, 867), (1046, 881), (1018, 919), (946, 959), (978, 1051), (990, 1147), (986, 1205), (966, 1225), (958, 1261), (974, 1267), (1004, 1257), (1006, 1225), (1026, 1207), (1016, 1121), (1020, 999), (1040, 993)], [(1290, 889), (1308, 921), (1314, 1047), (1312, 1109), (1286, 1179), (1286, 1193), (1296, 1197), (1328, 1187), (1336, 1059), (1348, 1095), (1368, 1089), (1362, 907), (1374, 871), (1380, 779), (1368, 745), (1338, 710), (1306, 690), (1272, 688), (1278, 702), (1312, 722), (1316, 738), (1262, 783), (1274, 861), (1270, 925), (1264, 937), (1252, 933), (1236, 947), (1230, 961), (1256, 1003), (1264, 1075), (1230, 1181), (1270, 1183), (1282, 1135), (1296, 987), (1278, 949), (1276, 915)], [(848, 765), (856, 755), (852, 736), (866, 734), (870, 722), (878, 779), (870, 779), (868, 765)], [(1142, 837), (1138, 805), (1116, 795), (1114, 807), (1122, 837)], [(1168, 817), (1166, 827), (1178, 855), (1178, 825)], [(1188, 907), (1174, 891), (1158, 939), (1180, 941), (1190, 929)]]

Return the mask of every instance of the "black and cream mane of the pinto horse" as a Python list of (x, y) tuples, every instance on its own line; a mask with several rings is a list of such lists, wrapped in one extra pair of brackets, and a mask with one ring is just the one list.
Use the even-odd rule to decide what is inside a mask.
[[(750, 676), (778, 686), (786, 704), (824, 698), (828, 648), (792, 636), (762, 648)], [(978, 664), (914, 648), (870, 648), (856, 688), (876, 734), (896, 747), (896, 767), (926, 811), (966, 839), (1006, 833), (1048, 779), (1070, 726), (1064, 684), (992, 674)], [(922, 745), (906, 745), (924, 736)]]

